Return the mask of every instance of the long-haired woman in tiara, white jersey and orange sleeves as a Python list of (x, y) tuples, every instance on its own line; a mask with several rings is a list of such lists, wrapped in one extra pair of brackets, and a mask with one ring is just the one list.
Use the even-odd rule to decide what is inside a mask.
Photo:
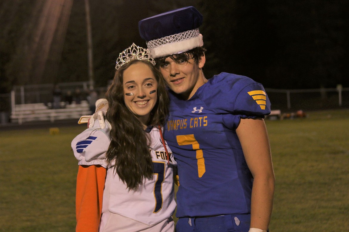
[(76, 231), (174, 230), (177, 164), (162, 137), (169, 100), (154, 65), (134, 44), (120, 53), (105, 128), (94, 123), (72, 141)]

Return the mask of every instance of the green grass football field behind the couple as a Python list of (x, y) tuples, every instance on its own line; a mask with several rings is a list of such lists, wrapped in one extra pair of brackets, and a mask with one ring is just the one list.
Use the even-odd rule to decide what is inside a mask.
[[(270, 231), (349, 231), (349, 110), (308, 115), (266, 121), (276, 176)], [(0, 131), (0, 231), (74, 231), (70, 141), (85, 128)]]

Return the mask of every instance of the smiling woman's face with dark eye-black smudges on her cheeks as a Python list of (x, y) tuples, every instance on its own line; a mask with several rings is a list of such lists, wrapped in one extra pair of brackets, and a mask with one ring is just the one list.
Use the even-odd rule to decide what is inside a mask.
[(157, 81), (147, 64), (138, 62), (128, 67), (122, 76), (126, 107), (147, 125), (157, 101)]

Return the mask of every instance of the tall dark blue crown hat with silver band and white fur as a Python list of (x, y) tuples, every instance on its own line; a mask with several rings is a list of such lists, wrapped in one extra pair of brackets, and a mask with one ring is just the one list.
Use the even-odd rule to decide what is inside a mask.
[(202, 15), (190, 6), (145, 18), (138, 28), (151, 57), (157, 58), (203, 46), (201, 24)]

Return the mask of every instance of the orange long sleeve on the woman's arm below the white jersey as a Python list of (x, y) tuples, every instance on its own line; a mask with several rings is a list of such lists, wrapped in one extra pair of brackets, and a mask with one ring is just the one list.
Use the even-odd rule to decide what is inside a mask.
[(106, 169), (79, 165), (76, 179), (76, 232), (98, 232)]

